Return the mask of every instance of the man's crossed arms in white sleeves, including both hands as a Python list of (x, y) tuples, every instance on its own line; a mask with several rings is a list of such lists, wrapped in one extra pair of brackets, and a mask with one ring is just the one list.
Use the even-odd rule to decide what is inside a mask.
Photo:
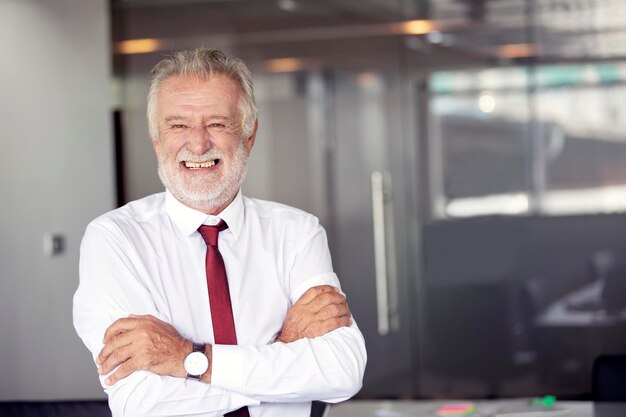
[(260, 404), (276, 407), (275, 415), (297, 415), (284, 407), (342, 401), (360, 389), (363, 337), (334, 274), (305, 283), (309, 289), (294, 300), (273, 343), (210, 346), (210, 371), (197, 382), (185, 378), (182, 365), (194, 332), (173, 326), (156, 307), (133, 251), (120, 234), (88, 228), (74, 299), (74, 325), (99, 364), (114, 416), (219, 416)]

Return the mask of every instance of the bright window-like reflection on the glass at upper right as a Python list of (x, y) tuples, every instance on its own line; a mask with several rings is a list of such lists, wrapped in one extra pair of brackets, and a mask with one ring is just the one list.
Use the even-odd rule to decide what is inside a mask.
[(433, 74), (439, 216), (626, 211), (625, 77), (617, 62)]

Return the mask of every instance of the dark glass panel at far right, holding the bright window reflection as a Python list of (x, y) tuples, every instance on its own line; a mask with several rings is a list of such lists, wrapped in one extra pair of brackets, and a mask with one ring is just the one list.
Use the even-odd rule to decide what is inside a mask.
[(418, 110), (419, 391), (588, 398), (594, 359), (626, 350), (626, 4), (430, 12), (459, 61), (427, 71)]

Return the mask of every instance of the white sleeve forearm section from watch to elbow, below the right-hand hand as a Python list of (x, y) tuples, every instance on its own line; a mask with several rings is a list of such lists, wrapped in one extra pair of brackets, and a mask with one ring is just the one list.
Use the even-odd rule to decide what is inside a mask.
[(366, 353), (354, 323), (313, 339), (213, 346), (211, 384), (261, 402), (339, 402), (362, 386)]

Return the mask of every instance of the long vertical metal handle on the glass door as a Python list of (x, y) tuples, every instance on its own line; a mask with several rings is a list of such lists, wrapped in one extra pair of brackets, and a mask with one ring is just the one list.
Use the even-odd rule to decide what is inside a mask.
[(398, 328), (393, 218), (391, 210), (385, 211), (391, 202), (391, 176), (386, 172), (372, 172), (376, 308), (381, 336)]

